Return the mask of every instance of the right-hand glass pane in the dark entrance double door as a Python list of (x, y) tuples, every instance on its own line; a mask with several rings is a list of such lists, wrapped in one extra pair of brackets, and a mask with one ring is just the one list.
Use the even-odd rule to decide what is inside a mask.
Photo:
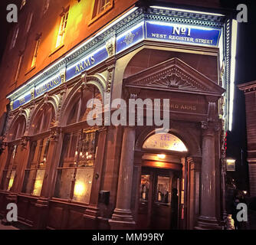
[(156, 201), (169, 204), (171, 201), (170, 178), (157, 177)]

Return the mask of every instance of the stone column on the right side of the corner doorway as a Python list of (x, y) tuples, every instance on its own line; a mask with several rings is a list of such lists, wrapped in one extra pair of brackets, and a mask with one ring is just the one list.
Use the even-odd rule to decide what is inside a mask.
[(216, 218), (215, 126), (202, 123), (200, 216), (197, 229), (220, 229)]

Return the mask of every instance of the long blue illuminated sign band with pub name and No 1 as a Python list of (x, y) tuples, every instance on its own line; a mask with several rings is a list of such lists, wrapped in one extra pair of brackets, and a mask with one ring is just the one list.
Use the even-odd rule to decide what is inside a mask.
[[(107, 60), (110, 55), (118, 54), (145, 39), (218, 47), (221, 32), (222, 30), (220, 28), (206, 28), (164, 21), (141, 21), (133, 28), (130, 28), (128, 31), (121, 33), (115, 38), (115, 47), (112, 47), (113, 54), (110, 54), (110, 51), (107, 49), (107, 44), (103, 44), (89, 53), (86, 52), (84, 55), (80, 54), (76, 60), (69, 60), (64, 67), (64, 81), (77, 77), (80, 73), (90, 70), (97, 64)], [(62, 71), (59, 71), (57, 74), (55, 73), (46, 81), (43, 80), (35, 87), (29, 90), (23, 90), (23, 92), (16, 95), (15, 98), (11, 98), (11, 109), (17, 109), (19, 106), (61, 85), (61, 82), (64, 82), (63, 80), (61, 81), (61, 72)]]

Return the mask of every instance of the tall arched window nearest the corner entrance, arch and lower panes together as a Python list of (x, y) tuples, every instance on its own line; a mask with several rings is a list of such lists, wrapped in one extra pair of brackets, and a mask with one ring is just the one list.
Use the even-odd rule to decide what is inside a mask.
[[(100, 92), (88, 87), (74, 100), (67, 115), (67, 129), (64, 129), (64, 140), (61, 160), (57, 168), (55, 198), (89, 203), (94, 175), (94, 160), (97, 149), (97, 131), (84, 129), (80, 122), (86, 121), (87, 101), (92, 98), (101, 100)], [(72, 129), (70, 129), (72, 125)]]

